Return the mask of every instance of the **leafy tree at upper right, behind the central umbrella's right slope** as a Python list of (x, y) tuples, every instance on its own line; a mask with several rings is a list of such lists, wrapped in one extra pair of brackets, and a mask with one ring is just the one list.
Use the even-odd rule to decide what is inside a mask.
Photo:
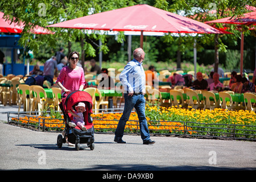
[[(161, 2), (161, 3), (160, 3)], [(173, 0), (171, 3), (167, 3), (167, 1), (158, 1), (156, 3), (159, 8), (163, 5), (168, 4), (166, 9), (173, 13), (181, 13), (189, 16), (190, 18), (199, 20), (201, 22), (206, 22), (213, 19), (220, 19), (227, 16), (241, 16), (243, 13), (247, 13), (246, 5), (256, 6), (255, 1), (243, 1), (243, 0), (226, 0), (226, 1), (205, 1), (205, 0)], [(217, 24), (218, 28), (222, 28), (222, 24)], [(248, 31), (248, 30), (247, 30)], [(209, 44), (214, 42), (215, 56), (214, 56), (214, 71), (217, 72), (218, 69), (218, 52), (224, 51), (226, 52), (226, 46), (222, 43), (222, 38), (225, 36), (232, 37), (232, 39), (237, 40), (240, 38), (240, 32), (237, 30), (236, 26), (230, 26), (230, 32), (234, 35), (211, 35), (205, 34), (203, 36), (196, 36), (197, 47), (200, 45)], [(249, 33), (247, 33), (249, 34)], [(183, 37), (184, 46), (180, 47), (191, 47), (191, 39), (192, 37)], [(181, 50), (182, 51), (182, 50)]]

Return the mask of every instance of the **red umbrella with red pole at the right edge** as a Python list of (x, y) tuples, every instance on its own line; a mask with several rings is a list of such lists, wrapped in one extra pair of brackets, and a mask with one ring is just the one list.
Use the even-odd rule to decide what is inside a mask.
[[(256, 24), (256, 11), (245, 13), (241, 17), (236, 18), (229, 16), (227, 18), (221, 18), (212, 20), (205, 23), (228, 23), (228, 24), (244, 24), (246, 26), (251, 26)], [(240, 74), (243, 73), (243, 32), (241, 32), (241, 57), (240, 57)]]

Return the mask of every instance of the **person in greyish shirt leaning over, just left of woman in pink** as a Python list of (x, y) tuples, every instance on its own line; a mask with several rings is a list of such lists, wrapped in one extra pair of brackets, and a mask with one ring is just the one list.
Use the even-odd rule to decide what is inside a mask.
[(57, 61), (56, 57), (52, 56), (46, 63), (44, 63), (43, 76), (45, 80), (51, 82), (51, 85), (53, 85), (54, 75), (57, 75)]

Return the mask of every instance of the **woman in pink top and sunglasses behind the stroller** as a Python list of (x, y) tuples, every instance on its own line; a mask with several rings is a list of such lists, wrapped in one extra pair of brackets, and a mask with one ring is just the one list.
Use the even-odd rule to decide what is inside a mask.
[(68, 94), (73, 90), (83, 90), (85, 86), (84, 69), (77, 66), (79, 52), (73, 51), (68, 56), (68, 66), (61, 69), (56, 84), (61, 89), (61, 94)]

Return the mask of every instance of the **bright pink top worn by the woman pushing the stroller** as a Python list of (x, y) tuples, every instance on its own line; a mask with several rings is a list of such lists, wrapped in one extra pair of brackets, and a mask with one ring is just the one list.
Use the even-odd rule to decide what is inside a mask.
[[(79, 90), (80, 85), (85, 85), (84, 69), (69, 69), (67, 66), (62, 68), (56, 82), (61, 84), (68, 90)], [(61, 93), (64, 91), (61, 90)]]

